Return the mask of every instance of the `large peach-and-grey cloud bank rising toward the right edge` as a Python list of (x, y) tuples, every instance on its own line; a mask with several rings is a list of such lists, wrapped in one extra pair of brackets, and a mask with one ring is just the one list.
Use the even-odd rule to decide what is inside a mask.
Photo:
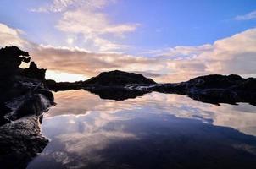
[(177, 46), (162, 53), (167, 59), (169, 74), (164, 81), (183, 81), (204, 74), (241, 74), (255, 76), (256, 29), (250, 29), (215, 41), (212, 45)]

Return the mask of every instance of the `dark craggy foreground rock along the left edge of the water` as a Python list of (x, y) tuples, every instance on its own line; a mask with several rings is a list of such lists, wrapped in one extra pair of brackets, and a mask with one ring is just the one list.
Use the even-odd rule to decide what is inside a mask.
[(45, 85), (46, 69), (16, 46), (0, 49), (0, 162), (2, 168), (25, 168), (47, 145), (41, 134), (42, 113), (54, 105)]

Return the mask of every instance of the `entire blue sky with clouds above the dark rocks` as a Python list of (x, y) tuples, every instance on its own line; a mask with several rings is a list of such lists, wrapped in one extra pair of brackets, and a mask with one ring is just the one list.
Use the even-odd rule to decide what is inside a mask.
[(30, 52), (47, 79), (120, 69), (157, 82), (256, 76), (255, 0), (1, 0), (0, 46)]

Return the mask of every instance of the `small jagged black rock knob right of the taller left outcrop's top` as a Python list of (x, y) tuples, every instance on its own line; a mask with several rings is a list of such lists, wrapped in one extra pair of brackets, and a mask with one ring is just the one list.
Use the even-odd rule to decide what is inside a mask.
[(37, 68), (36, 63), (31, 62), (29, 68), (25, 68), (22, 72), (22, 75), (31, 78), (31, 79), (45, 79), (45, 73), (47, 69), (44, 68)]

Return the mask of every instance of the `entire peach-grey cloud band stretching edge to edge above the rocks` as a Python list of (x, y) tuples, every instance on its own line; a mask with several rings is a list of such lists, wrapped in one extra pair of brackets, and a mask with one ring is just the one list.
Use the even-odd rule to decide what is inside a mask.
[(159, 52), (156, 57), (145, 57), (33, 44), (21, 37), (21, 30), (3, 24), (0, 27), (0, 46), (20, 46), (30, 52), (41, 68), (50, 71), (92, 77), (103, 71), (120, 69), (144, 74), (157, 82), (179, 82), (205, 74), (256, 76), (256, 29), (213, 44), (156, 50)]

